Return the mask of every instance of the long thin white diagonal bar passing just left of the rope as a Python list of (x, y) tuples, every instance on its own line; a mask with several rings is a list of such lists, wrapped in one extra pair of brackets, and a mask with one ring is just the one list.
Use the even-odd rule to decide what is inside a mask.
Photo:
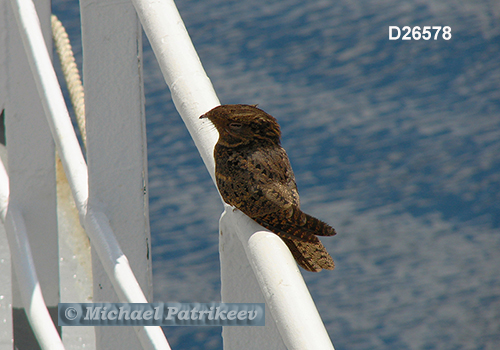
[[(12, 6), (82, 226), (97, 251), (118, 297), (125, 302), (147, 303), (108, 219), (98, 208), (87, 207), (89, 193), (87, 166), (42, 36), (35, 6), (31, 0), (12, 0)], [(160, 327), (134, 328), (145, 349), (170, 349)], [(41, 335), (37, 334), (37, 337), (39, 336)]]

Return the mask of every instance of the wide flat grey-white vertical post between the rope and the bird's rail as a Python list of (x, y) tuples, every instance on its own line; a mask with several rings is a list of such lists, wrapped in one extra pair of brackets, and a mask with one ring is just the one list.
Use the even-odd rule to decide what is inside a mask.
[[(106, 214), (148, 300), (152, 271), (142, 31), (130, 2), (82, 0), (89, 209)], [(94, 301), (118, 301), (93, 253)], [(124, 327), (96, 328), (98, 349), (140, 348)]]

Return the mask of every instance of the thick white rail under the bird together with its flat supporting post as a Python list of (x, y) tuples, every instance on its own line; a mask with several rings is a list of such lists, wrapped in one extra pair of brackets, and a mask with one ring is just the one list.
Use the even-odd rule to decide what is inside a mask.
[[(172, 0), (133, 0), (172, 98), (213, 179), (217, 132), (199, 116), (219, 104)], [(277, 324), (224, 327), (224, 349), (333, 349), (297, 265), (284, 243), (226, 206), (221, 218), (222, 301), (266, 301)], [(235, 236), (236, 235), (236, 236)], [(237, 237), (237, 239), (235, 239)], [(242, 249), (243, 247), (243, 249)], [(252, 262), (241, 259), (245, 251)], [(260, 291), (252, 279), (255, 273)], [(247, 283), (243, 283), (245, 276)], [(238, 280), (242, 283), (235, 283)], [(230, 287), (230, 288), (228, 288)], [(243, 327), (233, 327), (243, 328)], [(279, 330), (279, 333), (278, 333)], [(280, 336), (281, 335), (281, 336)], [(283, 338), (283, 341), (281, 340)]]

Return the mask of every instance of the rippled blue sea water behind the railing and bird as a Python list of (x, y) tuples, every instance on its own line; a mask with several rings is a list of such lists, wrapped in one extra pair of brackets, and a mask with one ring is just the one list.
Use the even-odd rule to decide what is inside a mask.
[[(78, 3), (53, 6), (81, 67)], [(335, 348), (497, 349), (500, 4), (177, 6), (221, 102), (279, 120), (303, 210), (338, 232), (323, 240), (336, 269), (302, 271)], [(389, 26), (452, 36), (391, 41)], [(220, 300), (222, 205), (146, 38), (144, 62), (155, 300)], [(165, 333), (222, 349), (220, 328)]]

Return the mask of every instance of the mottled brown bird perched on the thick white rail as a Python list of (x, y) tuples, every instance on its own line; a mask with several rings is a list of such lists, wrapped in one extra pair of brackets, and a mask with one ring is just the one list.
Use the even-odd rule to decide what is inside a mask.
[(257, 105), (220, 105), (200, 116), (219, 133), (215, 179), (222, 199), (277, 234), (305, 270), (333, 270), (332, 257), (317, 236), (333, 236), (327, 223), (300, 209), (278, 121)]

